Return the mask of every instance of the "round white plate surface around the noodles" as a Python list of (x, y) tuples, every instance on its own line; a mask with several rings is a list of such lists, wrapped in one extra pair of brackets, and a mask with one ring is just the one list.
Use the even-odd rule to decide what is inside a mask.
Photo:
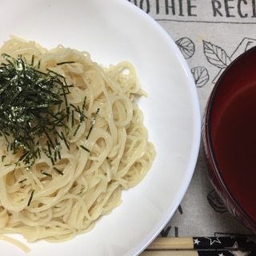
[[(0, 10), (1, 44), (15, 34), (48, 48), (61, 43), (87, 50), (104, 65), (133, 62), (149, 94), (139, 104), (158, 154), (146, 178), (123, 193), (122, 205), (94, 230), (60, 244), (26, 243), (28, 255), (139, 254), (174, 214), (198, 158), (198, 95), (182, 54), (162, 27), (126, 0), (2, 0)], [(25, 255), (6, 242), (0, 248), (5, 256)]]

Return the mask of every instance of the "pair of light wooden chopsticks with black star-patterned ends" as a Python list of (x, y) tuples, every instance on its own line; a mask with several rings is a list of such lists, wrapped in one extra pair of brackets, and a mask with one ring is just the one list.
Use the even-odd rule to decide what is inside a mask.
[(248, 252), (246, 255), (256, 255), (256, 236), (156, 238), (141, 255), (210, 256), (243, 250)]

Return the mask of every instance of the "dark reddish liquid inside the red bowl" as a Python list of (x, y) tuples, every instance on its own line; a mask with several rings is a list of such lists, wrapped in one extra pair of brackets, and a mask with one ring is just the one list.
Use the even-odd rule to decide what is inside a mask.
[(211, 133), (218, 170), (238, 205), (256, 222), (256, 84), (235, 90), (219, 107)]

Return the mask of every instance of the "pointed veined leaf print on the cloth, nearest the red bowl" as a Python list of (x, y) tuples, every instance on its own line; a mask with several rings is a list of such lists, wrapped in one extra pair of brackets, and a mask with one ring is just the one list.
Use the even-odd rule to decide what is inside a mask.
[(230, 57), (221, 47), (214, 46), (211, 42), (203, 41), (203, 50), (208, 62), (214, 66), (223, 69), (230, 65)]

